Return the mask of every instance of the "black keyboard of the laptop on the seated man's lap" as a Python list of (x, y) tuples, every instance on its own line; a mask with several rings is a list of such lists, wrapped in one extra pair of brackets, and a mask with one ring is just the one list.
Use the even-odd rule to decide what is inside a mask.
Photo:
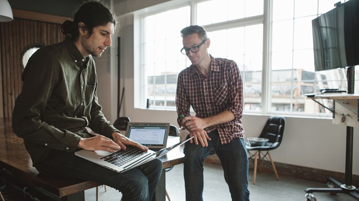
[(127, 146), (126, 150), (118, 150), (113, 152), (105, 157), (102, 157), (101, 160), (107, 161), (116, 166), (121, 166), (129, 161), (134, 160), (135, 158), (140, 157), (141, 155), (147, 153), (146, 151), (139, 150), (134, 146)]

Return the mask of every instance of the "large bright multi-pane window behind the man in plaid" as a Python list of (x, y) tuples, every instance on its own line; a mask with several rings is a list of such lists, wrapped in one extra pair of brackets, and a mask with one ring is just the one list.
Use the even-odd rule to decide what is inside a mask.
[[(149, 99), (151, 108), (175, 109), (177, 75), (191, 64), (179, 52), (183, 47), (180, 31), (196, 24), (211, 38), (211, 55), (237, 62), (246, 113), (329, 114), (304, 95), (321, 88), (346, 90), (345, 69), (314, 72), (311, 20), (334, 8), (335, 3), (193, 0), (175, 7), (167, 4), (165, 9), (161, 5), (157, 12), (138, 12), (143, 31), (140, 48), (135, 51), (140, 52), (138, 72), (142, 74), (135, 80), (135, 93), (142, 98), (135, 106), (144, 108)], [(355, 78), (357, 92), (358, 76)], [(331, 107), (332, 103), (323, 104)]]

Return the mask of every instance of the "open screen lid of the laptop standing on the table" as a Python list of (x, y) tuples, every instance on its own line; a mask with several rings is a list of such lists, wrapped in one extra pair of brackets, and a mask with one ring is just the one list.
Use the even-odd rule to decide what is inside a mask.
[(126, 137), (148, 148), (165, 148), (169, 123), (129, 123)]

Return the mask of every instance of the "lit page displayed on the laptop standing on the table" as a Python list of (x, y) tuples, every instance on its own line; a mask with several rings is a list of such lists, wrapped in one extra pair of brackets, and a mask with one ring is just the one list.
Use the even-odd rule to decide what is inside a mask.
[(143, 145), (164, 145), (166, 130), (166, 125), (134, 125), (129, 128), (128, 138)]

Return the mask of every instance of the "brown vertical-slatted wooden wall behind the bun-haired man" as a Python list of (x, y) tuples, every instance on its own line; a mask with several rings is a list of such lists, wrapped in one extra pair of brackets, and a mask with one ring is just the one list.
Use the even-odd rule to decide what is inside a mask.
[(15, 99), (21, 92), (22, 51), (31, 44), (48, 45), (63, 39), (59, 24), (22, 18), (0, 23), (0, 117), (12, 116)]

